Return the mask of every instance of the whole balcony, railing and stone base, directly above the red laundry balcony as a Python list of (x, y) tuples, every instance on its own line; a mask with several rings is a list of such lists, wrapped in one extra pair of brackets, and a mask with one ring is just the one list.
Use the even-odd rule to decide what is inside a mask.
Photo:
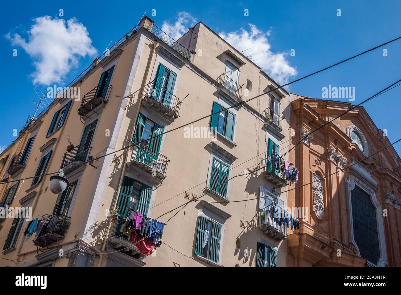
[(138, 144), (134, 146), (131, 161), (127, 163), (127, 169), (156, 186), (160, 185), (166, 178), (168, 162), (170, 160), (150, 146)]

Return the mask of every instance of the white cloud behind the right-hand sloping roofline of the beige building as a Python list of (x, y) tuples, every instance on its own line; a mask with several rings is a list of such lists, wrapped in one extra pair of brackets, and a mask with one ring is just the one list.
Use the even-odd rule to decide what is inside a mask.
[(244, 55), (255, 60), (255, 64), (260, 66), (277, 83), (286, 84), (291, 76), (297, 74), (296, 68), (292, 67), (286, 60), (287, 53), (271, 51), (271, 44), (267, 40), (270, 30), (264, 33), (253, 24), (249, 24), (249, 27), (250, 31), (241, 28), (239, 31), (221, 32), (219, 35), (237, 50), (246, 50)]

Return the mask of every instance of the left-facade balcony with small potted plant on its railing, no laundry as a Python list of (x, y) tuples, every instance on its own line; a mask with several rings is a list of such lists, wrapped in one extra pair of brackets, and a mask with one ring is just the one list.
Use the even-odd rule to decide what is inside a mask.
[(65, 153), (60, 167), (60, 169), (63, 169), (64, 174), (69, 175), (73, 171), (85, 169), (85, 162), (91, 148), (87, 144), (79, 144)]

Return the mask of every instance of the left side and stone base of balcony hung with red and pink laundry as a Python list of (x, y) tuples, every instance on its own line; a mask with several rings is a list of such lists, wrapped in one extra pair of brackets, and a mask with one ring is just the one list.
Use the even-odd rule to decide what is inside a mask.
[[(123, 253), (130, 255), (136, 259), (143, 258), (135, 243), (133, 243), (130, 238), (124, 235), (120, 229), (122, 224), (125, 222), (125, 217), (119, 216), (113, 225), (113, 231), (111, 237), (109, 237), (108, 242), (113, 244), (116, 251), (121, 250)], [(123, 250), (124, 249), (124, 250)]]

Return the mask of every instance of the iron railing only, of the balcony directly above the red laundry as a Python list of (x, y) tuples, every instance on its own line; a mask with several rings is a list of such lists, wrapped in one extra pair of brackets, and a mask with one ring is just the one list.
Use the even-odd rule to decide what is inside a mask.
[(170, 162), (165, 156), (145, 144), (134, 146), (131, 161), (144, 163), (162, 175), (166, 174), (167, 164)]

